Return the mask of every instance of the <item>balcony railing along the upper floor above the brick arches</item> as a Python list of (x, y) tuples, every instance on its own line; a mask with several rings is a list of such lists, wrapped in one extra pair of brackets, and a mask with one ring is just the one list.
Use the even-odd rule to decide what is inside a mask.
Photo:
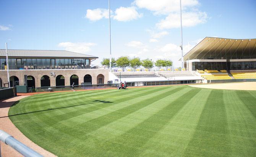
[[(9, 70), (38, 70), (38, 69), (98, 69), (99, 65), (9, 65)], [(1, 66), (0, 70), (6, 70)]]

